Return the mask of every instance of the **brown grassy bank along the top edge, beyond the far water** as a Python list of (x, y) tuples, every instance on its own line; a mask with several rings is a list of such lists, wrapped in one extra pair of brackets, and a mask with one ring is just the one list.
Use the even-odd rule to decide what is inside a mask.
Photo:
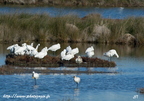
[(0, 0), (1, 4), (49, 6), (143, 7), (141, 0)]

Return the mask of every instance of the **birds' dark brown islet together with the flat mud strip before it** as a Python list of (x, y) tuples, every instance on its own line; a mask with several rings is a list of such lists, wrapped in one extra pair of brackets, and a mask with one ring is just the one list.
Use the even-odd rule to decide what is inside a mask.
[[(63, 74), (95, 74), (95, 73), (112, 73), (117, 74), (117, 71), (97, 71), (90, 70), (90, 68), (114, 68), (115, 62), (102, 60), (99, 58), (82, 57), (83, 63), (77, 64), (75, 62), (76, 56), (70, 61), (61, 60), (60, 56), (45, 56), (43, 59), (35, 58), (28, 55), (18, 56), (8, 54), (6, 56), (6, 65), (1, 66), (1, 75), (32, 73), (36, 71), (43, 74), (63, 73)], [(57, 68), (71, 68), (71, 69), (57, 69)], [(56, 68), (56, 69), (54, 69)], [(87, 70), (73, 70), (74, 68), (87, 68)]]

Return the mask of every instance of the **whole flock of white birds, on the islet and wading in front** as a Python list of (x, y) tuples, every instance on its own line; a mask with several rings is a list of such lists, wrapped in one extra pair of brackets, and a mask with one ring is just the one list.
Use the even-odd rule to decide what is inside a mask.
[[(61, 48), (60, 44), (54, 44), (51, 47), (47, 48), (44, 47), (40, 52), (38, 52), (38, 47), (40, 46), (40, 44), (38, 44), (36, 47), (33, 47), (33, 43), (31, 43), (30, 45), (27, 45), (26, 43), (23, 43), (22, 46), (19, 46), (18, 44), (14, 44), (11, 45), (9, 47), (7, 47), (7, 50), (10, 50), (10, 54), (15, 54), (15, 55), (30, 55), (30, 56), (34, 56), (35, 58), (39, 58), (42, 59), (47, 55), (47, 52), (49, 50), (51, 51), (57, 51), (58, 49)], [(61, 53), (61, 59), (62, 60), (70, 60), (72, 58), (74, 58), (74, 55), (79, 53), (79, 49), (78, 48), (74, 48), (72, 49), (70, 46), (66, 47), (66, 49), (64, 49)], [(94, 48), (93, 46), (90, 46), (86, 49), (85, 51), (86, 55), (88, 58), (91, 58), (92, 56), (94, 56)], [(119, 58), (119, 55), (117, 54), (115, 49), (111, 49), (105, 53), (103, 53), (104, 56), (108, 57), (111, 60), (111, 57), (113, 57), (114, 55)], [(83, 62), (82, 58), (80, 56), (78, 56), (76, 58), (76, 63), (80, 64)], [(32, 72), (32, 78), (35, 79), (35, 84), (36, 84), (36, 79), (39, 78), (39, 74), (35, 73), (34, 71)], [(77, 87), (78, 84), (80, 83), (80, 78), (74, 76), (74, 82), (76, 82)]]

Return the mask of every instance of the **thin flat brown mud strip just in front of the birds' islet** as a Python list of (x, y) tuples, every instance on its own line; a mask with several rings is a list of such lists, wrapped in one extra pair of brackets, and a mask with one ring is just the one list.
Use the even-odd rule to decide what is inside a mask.
[(75, 70), (50, 70), (50, 69), (35, 69), (35, 68), (24, 68), (24, 67), (14, 67), (4, 65), (0, 67), (0, 75), (12, 75), (12, 74), (25, 74), (25, 73), (32, 73), (36, 71), (37, 73), (41, 74), (95, 74), (95, 73), (110, 73), (110, 74), (117, 74), (118, 72), (104, 72), (104, 71), (75, 71)]

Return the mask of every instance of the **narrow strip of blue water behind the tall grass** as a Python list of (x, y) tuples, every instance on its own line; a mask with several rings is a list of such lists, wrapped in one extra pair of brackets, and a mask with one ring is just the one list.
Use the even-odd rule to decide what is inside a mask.
[(30, 13), (42, 14), (46, 13), (50, 16), (61, 16), (67, 14), (76, 14), (79, 17), (84, 17), (91, 13), (98, 13), (103, 18), (123, 19), (127, 17), (143, 17), (144, 8), (101, 8), (101, 7), (26, 7), (26, 6), (1, 6), (0, 14), (13, 14), (13, 13)]

